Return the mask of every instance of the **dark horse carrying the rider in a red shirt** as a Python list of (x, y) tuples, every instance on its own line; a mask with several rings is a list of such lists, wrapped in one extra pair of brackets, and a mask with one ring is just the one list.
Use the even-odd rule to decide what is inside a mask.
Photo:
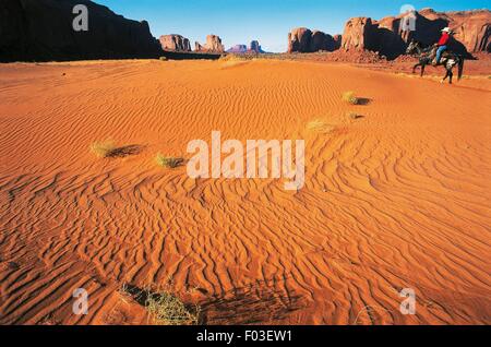
[[(416, 68), (421, 67), (422, 76), (424, 74), (424, 68), (428, 64), (431, 64), (434, 56), (435, 47), (427, 47), (423, 48), (421, 43), (417, 40), (411, 40), (406, 49), (406, 55), (414, 55), (416, 52), (416, 57), (419, 58), (419, 62), (412, 67), (412, 73), (416, 72)], [(458, 67), (458, 81), (462, 79), (462, 74), (464, 73), (464, 57), (456, 55), (451, 51), (445, 51), (440, 59), (440, 64), (443, 65), (446, 70), (445, 76), (442, 79), (441, 83), (443, 83), (446, 77), (448, 77), (448, 83), (452, 84), (452, 79), (454, 76), (454, 72), (452, 71), (456, 65)]]

